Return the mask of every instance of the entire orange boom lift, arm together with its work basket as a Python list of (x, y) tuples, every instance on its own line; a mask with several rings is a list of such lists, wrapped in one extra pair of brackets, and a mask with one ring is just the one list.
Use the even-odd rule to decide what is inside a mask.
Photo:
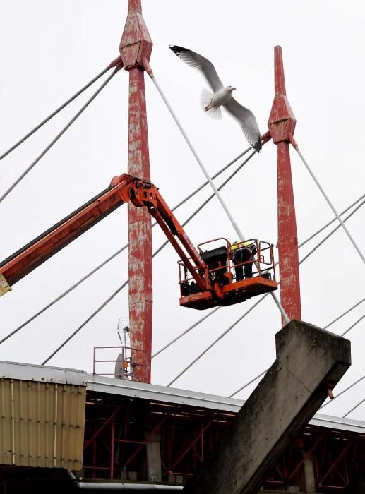
[[(256, 269), (253, 277), (237, 281), (231, 244), (227, 239), (205, 242), (196, 249), (157, 187), (148, 181), (122, 174), (114, 177), (110, 186), (95, 198), (2, 261), (0, 295), (10, 291), (11, 285), (124, 203), (146, 207), (179, 255), (181, 306), (196, 309), (229, 306), (277, 289), (273, 246), (270, 243), (256, 239), (250, 241), (256, 247), (257, 259), (246, 262), (254, 263)], [(203, 251), (202, 246), (217, 241), (224, 245)]]

